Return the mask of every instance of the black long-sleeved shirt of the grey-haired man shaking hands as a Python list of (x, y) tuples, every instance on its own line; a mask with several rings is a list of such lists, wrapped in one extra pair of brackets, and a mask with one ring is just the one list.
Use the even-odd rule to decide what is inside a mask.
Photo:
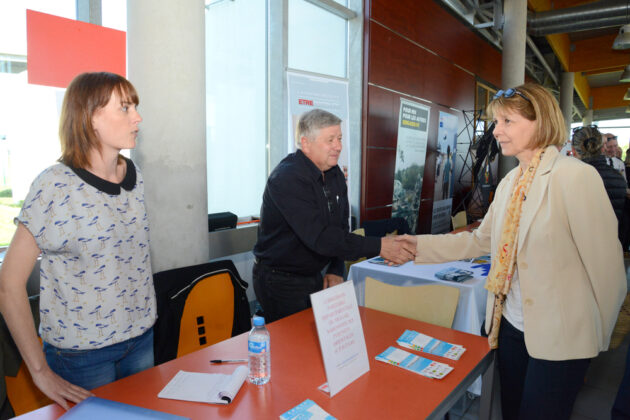
[(373, 257), (380, 238), (349, 232), (348, 188), (339, 166), (322, 172), (301, 150), (273, 170), (263, 194), (254, 255), (268, 267), (343, 275), (344, 260)]

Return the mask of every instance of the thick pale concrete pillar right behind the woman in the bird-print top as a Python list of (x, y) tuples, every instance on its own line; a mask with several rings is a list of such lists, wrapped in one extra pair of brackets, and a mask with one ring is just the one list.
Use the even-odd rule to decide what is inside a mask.
[(127, 26), (128, 78), (144, 118), (131, 156), (145, 181), (153, 271), (204, 263), (209, 257), (204, 1), (129, 0)]

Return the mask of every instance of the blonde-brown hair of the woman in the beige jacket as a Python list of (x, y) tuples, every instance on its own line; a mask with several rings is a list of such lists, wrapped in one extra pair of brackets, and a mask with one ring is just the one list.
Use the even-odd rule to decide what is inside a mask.
[(530, 121), (536, 121), (530, 148), (562, 147), (567, 137), (566, 126), (558, 101), (551, 92), (537, 83), (525, 83), (514, 90), (517, 93), (513, 96), (500, 96), (488, 104), (488, 118), (492, 119), (500, 110), (516, 112)]

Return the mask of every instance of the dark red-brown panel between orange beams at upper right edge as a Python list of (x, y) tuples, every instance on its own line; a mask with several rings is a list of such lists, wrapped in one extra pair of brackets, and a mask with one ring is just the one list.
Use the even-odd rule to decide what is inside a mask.
[(627, 51), (615, 51), (612, 44), (617, 34), (574, 41), (570, 46), (569, 71), (593, 71), (630, 64)]

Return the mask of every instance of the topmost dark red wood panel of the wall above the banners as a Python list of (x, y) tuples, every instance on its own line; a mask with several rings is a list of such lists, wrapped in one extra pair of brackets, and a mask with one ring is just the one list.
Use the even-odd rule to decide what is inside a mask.
[(372, 0), (370, 3), (373, 21), (490, 83), (501, 84), (501, 52), (435, 1)]

